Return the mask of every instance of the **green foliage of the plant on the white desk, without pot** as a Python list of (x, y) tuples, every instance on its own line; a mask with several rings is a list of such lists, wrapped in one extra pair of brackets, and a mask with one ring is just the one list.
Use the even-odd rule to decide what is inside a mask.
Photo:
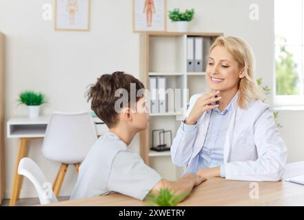
[(45, 103), (45, 96), (42, 93), (36, 93), (34, 91), (22, 91), (19, 94), (19, 104), (26, 105), (41, 105)]

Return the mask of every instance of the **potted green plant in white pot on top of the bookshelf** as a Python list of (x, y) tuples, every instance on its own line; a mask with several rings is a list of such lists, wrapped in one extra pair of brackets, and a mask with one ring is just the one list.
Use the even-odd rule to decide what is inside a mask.
[(169, 19), (176, 22), (178, 32), (188, 32), (188, 23), (194, 17), (194, 8), (180, 12), (179, 8), (169, 11)]

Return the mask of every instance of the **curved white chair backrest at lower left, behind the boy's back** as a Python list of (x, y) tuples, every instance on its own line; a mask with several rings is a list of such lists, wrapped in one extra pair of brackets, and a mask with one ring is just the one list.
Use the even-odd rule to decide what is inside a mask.
[(23, 157), (18, 166), (18, 174), (28, 177), (37, 191), (41, 205), (57, 202), (52, 190), (52, 184), (48, 182), (39, 166), (30, 158)]

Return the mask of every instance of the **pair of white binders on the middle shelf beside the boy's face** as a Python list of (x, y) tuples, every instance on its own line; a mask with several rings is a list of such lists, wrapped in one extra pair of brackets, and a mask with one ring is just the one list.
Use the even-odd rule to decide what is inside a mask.
[(167, 102), (165, 96), (165, 76), (150, 76), (150, 111), (151, 113), (165, 113)]

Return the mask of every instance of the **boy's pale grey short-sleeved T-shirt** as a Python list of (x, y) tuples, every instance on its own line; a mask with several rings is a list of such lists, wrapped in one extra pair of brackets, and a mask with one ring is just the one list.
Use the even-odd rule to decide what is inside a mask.
[(143, 200), (162, 177), (114, 133), (99, 137), (79, 167), (70, 199), (120, 192)]

